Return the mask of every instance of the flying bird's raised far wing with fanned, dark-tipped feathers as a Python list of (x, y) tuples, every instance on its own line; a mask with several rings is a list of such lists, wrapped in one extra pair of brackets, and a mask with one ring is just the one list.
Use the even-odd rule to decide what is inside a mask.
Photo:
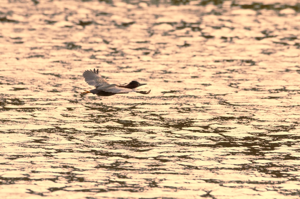
[(94, 71), (92, 70), (86, 70), (83, 72), (83, 77), (85, 79), (85, 82), (88, 83), (88, 85), (95, 86), (96, 88), (98, 87), (106, 87), (110, 85), (105, 79), (103, 79), (99, 74), (98, 74), (99, 69), (94, 68)]

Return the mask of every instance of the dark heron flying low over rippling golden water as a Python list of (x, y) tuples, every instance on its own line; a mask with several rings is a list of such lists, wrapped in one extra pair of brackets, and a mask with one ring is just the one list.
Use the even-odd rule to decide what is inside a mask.
[(136, 92), (140, 94), (149, 94), (151, 90), (149, 91), (135, 91), (134, 88), (146, 85), (141, 84), (137, 81), (131, 81), (127, 85), (116, 85), (116, 84), (109, 84), (106, 79), (103, 79), (99, 75), (99, 69), (95, 69), (94, 71), (85, 70), (82, 74), (82, 76), (85, 79), (85, 82), (88, 83), (88, 85), (95, 86), (96, 88), (90, 91), (82, 92), (81, 94), (86, 93), (92, 93), (99, 96), (111, 96), (115, 94), (123, 94), (123, 93), (130, 93), (130, 92)]

